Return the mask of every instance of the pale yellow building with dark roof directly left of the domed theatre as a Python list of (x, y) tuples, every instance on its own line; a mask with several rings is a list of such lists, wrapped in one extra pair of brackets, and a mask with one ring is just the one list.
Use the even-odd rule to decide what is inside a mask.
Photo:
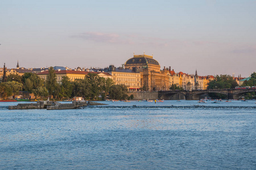
[(141, 89), (141, 74), (136, 69), (123, 69), (110, 65), (108, 73), (112, 75), (114, 84), (123, 84), (129, 91), (139, 91)]

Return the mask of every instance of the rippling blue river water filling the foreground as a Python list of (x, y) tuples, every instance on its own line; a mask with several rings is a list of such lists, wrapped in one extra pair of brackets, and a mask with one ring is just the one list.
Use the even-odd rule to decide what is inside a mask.
[(255, 100), (0, 103), (0, 169), (256, 169)]

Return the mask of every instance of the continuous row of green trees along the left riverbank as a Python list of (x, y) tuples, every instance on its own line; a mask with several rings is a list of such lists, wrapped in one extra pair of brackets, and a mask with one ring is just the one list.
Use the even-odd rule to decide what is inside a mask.
[(0, 96), (6, 99), (8, 96), (18, 95), (19, 91), (33, 93), (35, 99), (38, 97), (50, 97), (57, 100), (71, 99), (75, 96), (84, 97), (86, 100), (130, 99), (127, 88), (123, 85), (114, 85), (113, 80), (102, 78), (94, 73), (89, 73), (84, 79), (71, 81), (63, 76), (61, 83), (57, 83), (57, 76), (52, 67), (46, 81), (34, 73), (10, 74), (7, 82), (0, 83)]

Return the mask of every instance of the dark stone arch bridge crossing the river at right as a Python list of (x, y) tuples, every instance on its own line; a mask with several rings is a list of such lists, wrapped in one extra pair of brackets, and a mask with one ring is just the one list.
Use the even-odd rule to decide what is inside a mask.
[(215, 94), (223, 94), (228, 96), (228, 99), (237, 99), (239, 95), (246, 94), (248, 92), (256, 92), (256, 89), (216, 89), (216, 90), (193, 90), (193, 91), (159, 91), (158, 98), (159, 99), (185, 99), (185, 100), (199, 100), (200, 95), (215, 93)]

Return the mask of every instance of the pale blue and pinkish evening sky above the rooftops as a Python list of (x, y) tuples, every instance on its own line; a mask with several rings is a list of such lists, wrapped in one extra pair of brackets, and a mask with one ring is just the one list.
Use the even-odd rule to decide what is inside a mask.
[(0, 65), (118, 67), (145, 53), (161, 69), (247, 77), (255, 9), (256, 0), (0, 0)]

